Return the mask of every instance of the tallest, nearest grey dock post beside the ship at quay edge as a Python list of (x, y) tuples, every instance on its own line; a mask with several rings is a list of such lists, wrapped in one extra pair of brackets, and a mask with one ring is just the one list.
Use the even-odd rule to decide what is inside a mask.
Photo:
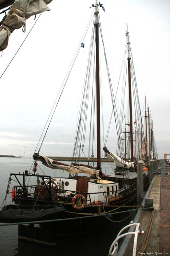
[(143, 192), (143, 161), (138, 161), (137, 205), (141, 204), (142, 192)]

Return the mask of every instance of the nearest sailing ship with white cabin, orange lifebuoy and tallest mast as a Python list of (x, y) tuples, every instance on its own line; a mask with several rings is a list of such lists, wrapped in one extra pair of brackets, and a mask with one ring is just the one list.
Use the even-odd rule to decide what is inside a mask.
[[(39, 210), (43, 211), (44, 206), (55, 208), (56, 212), (52, 211), (52, 217), (58, 219), (57, 225), (64, 225), (68, 228), (74, 226), (77, 227), (77, 221), (81, 224), (84, 224), (84, 227), (87, 227), (87, 223), (90, 221), (92, 225), (97, 223), (100, 226), (103, 224), (106, 225), (106, 222), (111, 224), (111, 221), (119, 219), (123, 221), (122, 213), (119, 213), (124, 206), (130, 207), (134, 205), (136, 198), (136, 182), (129, 180), (127, 178), (118, 178), (104, 175), (101, 166), (101, 139), (100, 139), (100, 60), (99, 60), (99, 34), (103, 42), (103, 35), (100, 26), (99, 19), (99, 7), (102, 9), (103, 4), (100, 4), (96, 1), (95, 5), (92, 5), (91, 8), (95, 8), (94, 17), (93, 17), (93, 26), (92, 26), (92, 35), (90, 40), (90, 49), (88, 54), (88, 61), (85, 74), (85, 84), (83, 87), (83, 97), (82, 105), (80, 107), (79, 120), (77, 125), (77, 131), (75, 136), (75, 146), (73, 151), (73, 159), (71, 164), (58, 162), (49, 157), (44, 157), (40, 154), (41, 146), (44, 142), (48, 127), (51, 123), (51, 120), (48, 124), (47, 130), (45, 132), (44, 138), (42, 139), (41, 145), (37, 153), (33, 154), (34, 165), (32, 171), (25, 171), (23, 174), (11, 173), (9, 177), (7, 194), (9, 193), (9, 187), (11, 180), (13, 178), (18, 182), (12, 188), (12, 201), (15, 203), (15, 207), (5, 206), (0, 211), (0, 221), (1, 222), (21, 222), (25, 217), (22, 218), (21, 212), (23, 208), (27, 211), (36, 211), (38, 216)], [(86, 34), (86, 33), (85, 33)], [(83, 47), (83, 43), (79, 45), (79, 49)], [(110, 90), (112, 93), (110, 74), (107, 65), (106, 52), (104, 49), (104, 57), (106, 61), (106, 68), (108, 74), (108, 80), (110, 82)], [(91, 64), (91, 60), (94, 61), (94, 65)], [(75, 60), (73, 61), (75, 62)], [(68, 72), (70, 74), (70, 71)], [(87, 108), (89, 101), (89, 83), (90, 76), (93, 74), (92, 80), (92, 92), (91, 92), (91, 110), (90, 110), (90, 131), (89, 134), (92, 140), (92, 147), (89, 147), (88, 150), (88, 159), (94, 157), (95, 152), (95, 138), (96, 138), (96, 151), (97, 151), (97, 163), (92, 161), (91, 165), (88, 161), (88, 164), (79, 163), (80, 154), (84, 152), (85, 144), (85, 133), (86, 133), (86, 124), (87, 124)], [(67, 80), (67, 79), (66, 79)], [(61, 90), (63, 91), (63, 89)], [(113, 95), (112, 95), (113, 96)], [(60, 98), (60, 97), (59, 97)], [(114, 105), (114, 97), (112, 97)], [(96, 102), (94, 104), (94, 102)], [(56, 107), (54, 108), (56, 109)], [(53, 114), (52, 114), (53, 116)], [(96, 121), (95, 121), (96, 120)], [(95, 136), (95, 125), (96, 125), (96, 136)], [(89, 140), (90, 140), (89, 139)], [(105, 146), (105, 145), (104, 145)], [(107, 154), (108, 151), (106, 151)], [(133, 153), (131, 154), (133, 157)], [(133, 160), (133, 159), (132, 159)], [(45, 175), (39, 175), (37, 173), (38, 162), (42, 162), (43, 165), (54, 169), (54, 170), (63, 170), (69, 173), (68, 177), (51, 177)], [(122, 161), (122, 160), (121, 160)], [(35, 179), (33, 185), (28, 185), (26, 181)], [(47, 208), (48, 208), (47, 207)], [(19, 211), (16, 211), (16, 209)], [(63, 210), (64, 208), (64, 210)], [(126, 208), (127, 210), (127, 208)], [(11, 214), (7, 214), (7, 212)], [(112, 215), (117, 212), (117, 214)], [(32, 220), (37, 221), (37, 216)], [(82, 218), (81, 218), (82, 217)], [(89, 217), (92, 217), (91, 219)], [(44, 219), (51, 219), (51, 216), (48, 216), (48, 213), (44, 212)], [(41, 219), (43, 217), (41, 216)], [(75, 221), (76, 219), (76, 221)], [(65, 220), (65, 221), (63, 221)], [(63, 224), (64, 223), (64, 224)], [(73, 225), (71, 225), (73, 224)], [(88, 228), (88, 227), (87, 227)], [(59, 229), (61, 232), (61, 230)]]

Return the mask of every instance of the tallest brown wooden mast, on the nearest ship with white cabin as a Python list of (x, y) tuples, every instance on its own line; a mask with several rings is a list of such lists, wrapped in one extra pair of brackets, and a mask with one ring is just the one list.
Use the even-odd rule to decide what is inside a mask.
[(97, 169), (101, 169), (100, 161), (100, 74), (99, 74), (99, 10), (96, 0), (95, 11), (95, 35), (96, 35), (96, 124), (97, 124)]

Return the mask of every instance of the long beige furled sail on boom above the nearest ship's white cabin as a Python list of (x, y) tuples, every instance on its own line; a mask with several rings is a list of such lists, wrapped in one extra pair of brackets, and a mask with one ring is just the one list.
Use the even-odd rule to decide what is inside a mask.
[(51, 169), (59, 169), (59, 170), (65, 170), (68, 173), (87, 173), (90, 175), (95, 175), (98, 179), (99, 177), (99, 170), (96, 170), (92, 167), (86, 167), (86, 166), (74, 166), (74, 165), (67, 165), (67, 164), (56, 164), (54, 163), (53, 159), (50, 159), (48, 157), (44, 157), (42, 155), (39, 155), (39, 157), (43, 158), (44, 161), (40, 160), (43, 162), (43, 165), (50, 167)]

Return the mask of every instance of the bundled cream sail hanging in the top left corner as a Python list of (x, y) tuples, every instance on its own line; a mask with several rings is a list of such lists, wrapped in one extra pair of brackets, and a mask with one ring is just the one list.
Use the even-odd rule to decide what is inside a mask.
[(0, 51), (7, 48), (9, 36), (15, 29), (22, 27), (26, 19), (44, 11), (50, 11), (47, 6), (52, 0), (15, 0), (10, 11), (3, 18), (0, 27)]

